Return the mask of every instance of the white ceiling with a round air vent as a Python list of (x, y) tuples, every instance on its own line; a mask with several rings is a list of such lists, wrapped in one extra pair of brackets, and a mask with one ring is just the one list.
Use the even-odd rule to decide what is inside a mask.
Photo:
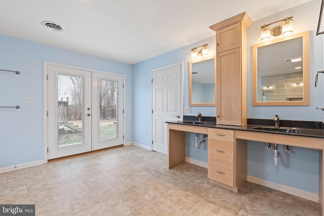
[(0, 0), (0, 33), (135, 64), (213, 36), (209, 26), (242, 12), (255, 21), (308, 1)]

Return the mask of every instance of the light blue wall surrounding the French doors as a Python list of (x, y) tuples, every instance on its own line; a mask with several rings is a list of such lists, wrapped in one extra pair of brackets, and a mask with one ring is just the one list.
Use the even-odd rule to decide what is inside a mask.
[[(132, 141), (132, 66), (0, 34), (0, 168), (44, 159), (43, 61), (126, 75), (126, 142)], [(32, 104), (24, 104), (32, 97)], [(24, 148), (24, 142), (30, 148)]]

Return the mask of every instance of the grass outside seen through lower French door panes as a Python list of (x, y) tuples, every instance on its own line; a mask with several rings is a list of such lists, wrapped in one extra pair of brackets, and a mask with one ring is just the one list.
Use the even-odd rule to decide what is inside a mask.
[[(113, 139), (117, 137), (117, 126), (113, 124), (114, 120), (100, 120), (100, 140)], [(73, 125), (78, 125), (82, 128), (82, 121), (70, 121)], [(77, 133), (66, 126), (59, 126), (59, 129), (64, 128), (64, 134), (58, 137), (58, 146), (73, 145), (83, 143), (82, 133)]]

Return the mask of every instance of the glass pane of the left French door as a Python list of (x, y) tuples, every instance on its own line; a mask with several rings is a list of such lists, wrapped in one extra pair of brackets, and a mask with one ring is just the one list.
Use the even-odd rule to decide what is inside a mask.
[(58, 75), (58, 147), (83, 143), (84, 77)]

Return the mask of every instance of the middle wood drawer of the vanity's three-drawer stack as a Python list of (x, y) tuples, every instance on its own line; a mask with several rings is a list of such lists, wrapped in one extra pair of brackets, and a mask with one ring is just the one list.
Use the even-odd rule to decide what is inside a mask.
[(234, 164), (234, 143), (209, 140), (208, 158), (224, 163)]

